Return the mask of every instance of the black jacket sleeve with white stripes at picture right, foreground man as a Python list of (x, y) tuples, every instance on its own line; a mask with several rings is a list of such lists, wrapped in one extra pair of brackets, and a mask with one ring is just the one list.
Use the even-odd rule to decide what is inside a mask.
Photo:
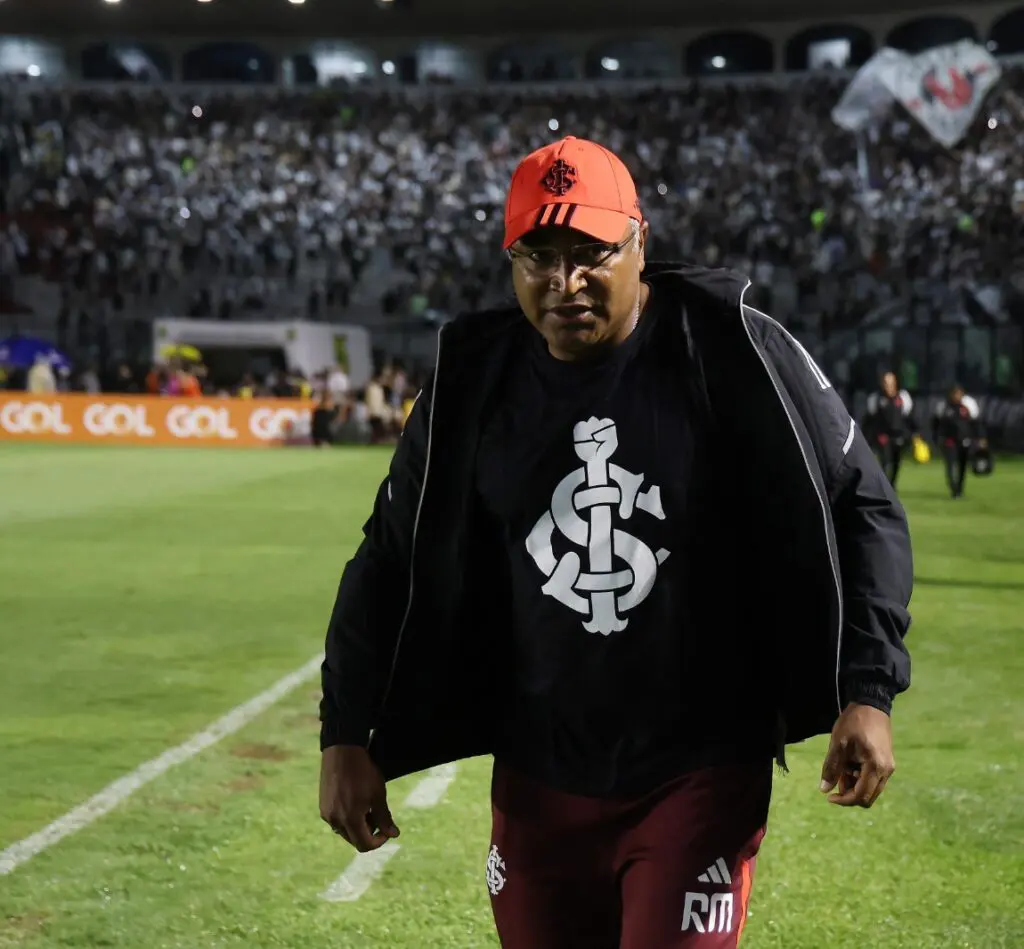
[(844, 702), (889, 713), (910, 685), (904, 637), (913, 587), (906, 515), (831, 383), (774, 321), (766, 349), (813, 443), (831, 507), (843, 584)]

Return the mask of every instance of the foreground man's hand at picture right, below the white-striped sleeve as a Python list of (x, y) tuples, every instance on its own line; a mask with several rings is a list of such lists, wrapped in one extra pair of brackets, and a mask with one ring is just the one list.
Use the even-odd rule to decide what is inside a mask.
[(847, 705), (833, 728), (821, 768), (822, 793), (834, 791), (828, 803), (869, 808), (895, 770), (889, 716), (870, 705)]

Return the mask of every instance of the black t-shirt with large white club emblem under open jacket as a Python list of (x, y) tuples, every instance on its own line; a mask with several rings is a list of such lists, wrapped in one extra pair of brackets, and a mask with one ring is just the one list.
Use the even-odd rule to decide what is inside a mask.
[(687, 528), (712, 472), (657, 304), (594, 363), (532, 334), (477, 456), (513, 599), (497, 753), (580, 794), (642, 793), (709, 751), (684, 682), (688, 638), (711, 632), (692, 628)]

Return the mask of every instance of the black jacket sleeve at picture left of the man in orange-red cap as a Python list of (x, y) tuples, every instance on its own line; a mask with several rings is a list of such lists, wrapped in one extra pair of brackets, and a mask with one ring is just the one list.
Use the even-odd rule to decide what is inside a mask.
[(345, 566), (321, 666), (321, 749), (367, 745), (376, 727), (409, 598), (413, 534), (427, 465), (431, 382), (413, 406), (362, 543)]

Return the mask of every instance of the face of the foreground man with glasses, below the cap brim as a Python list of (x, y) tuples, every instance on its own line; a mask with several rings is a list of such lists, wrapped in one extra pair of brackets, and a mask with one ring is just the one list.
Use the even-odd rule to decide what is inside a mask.
[(630, 335), (647, 224), (637, 241), (601, 244), (571, 227), (540, 227), (511, 249), (512, 284), (526, 318), (558, 359), (587, 358)]

